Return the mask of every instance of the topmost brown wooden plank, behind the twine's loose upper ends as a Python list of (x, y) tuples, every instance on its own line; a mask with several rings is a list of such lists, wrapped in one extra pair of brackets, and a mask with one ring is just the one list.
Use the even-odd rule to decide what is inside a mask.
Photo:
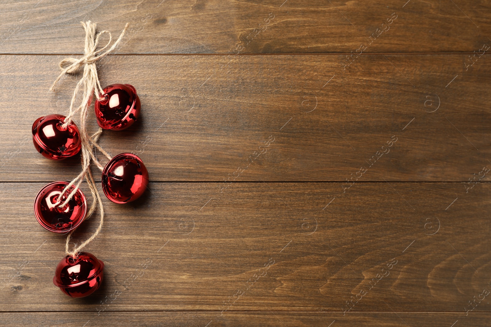
[(129, 22), (120, 53), (473, 52), (491, 31), (486, 0), (34, 0), (0, 14), (0, 53), (82, 53), (82, 20), (114, 35)]

